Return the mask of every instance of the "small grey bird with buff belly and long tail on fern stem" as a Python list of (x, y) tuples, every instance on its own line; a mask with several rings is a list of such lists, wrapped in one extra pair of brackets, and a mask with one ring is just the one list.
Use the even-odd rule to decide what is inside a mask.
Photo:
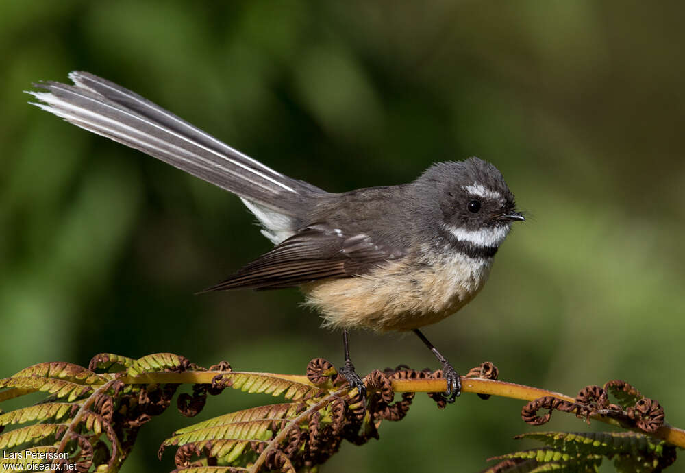
[[(87, 72), (73, 85), (34, 83), (29, 102), (237, 195), (273, 243), (206, 289), (299, 287), (323, 326), (342, 330), (338, 371), (366, 390), (349, 331), (413, 331), (442, 364), (454, 402), (461, 381), (423, 335), (482, 289), (512, 223), (525, 221), (499, 170), (476, 157), (437, 162), (416, 180), (329, 193), (230, 147), (144, 97)], [(202, 292), (205, 292), (202, 291)]]

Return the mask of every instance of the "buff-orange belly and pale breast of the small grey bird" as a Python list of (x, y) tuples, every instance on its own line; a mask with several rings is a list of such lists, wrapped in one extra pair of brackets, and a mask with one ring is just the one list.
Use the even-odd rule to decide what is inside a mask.
[[(455, 313), (482, 289), (492, 258), (462, 254), (408, 265), (379, 266), (353, 278), (302, 286), (306, 304), (330, 328), (369, 328), (379, 332), (412, 330)], [(417, 269), (419, 268), (419, 269)]]

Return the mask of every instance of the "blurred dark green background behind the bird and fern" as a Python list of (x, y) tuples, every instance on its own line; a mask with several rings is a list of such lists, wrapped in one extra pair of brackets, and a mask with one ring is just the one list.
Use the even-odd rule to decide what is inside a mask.
[[(482, 294), (427, 337), (464, 372), (490, 360), (569, 394), (623, 378), (685, 426), (684, 14), (619, 0), (3, 0), (0, 376), (99, 352), (286, 373), (342, 359), (295, 290), (193, 295), (270, 243), (236, 197), (27, 105), (32, 82), (77, 69), (329, 191), (495, 163), (531, 218)], [(438, 367), (413, 336), (351, 343), (362, 373)], [(269, 399), (210, 401), (202, 418)], [(479, 470), (525, 446), (522, 404), (467, 395), (438, 411), (419, 396), (323, 471)], [(124, 471), (170, 470), (156, 450), (190, 422), (154, 420)], [(556, 415), (544, 429), (585, 428)]]

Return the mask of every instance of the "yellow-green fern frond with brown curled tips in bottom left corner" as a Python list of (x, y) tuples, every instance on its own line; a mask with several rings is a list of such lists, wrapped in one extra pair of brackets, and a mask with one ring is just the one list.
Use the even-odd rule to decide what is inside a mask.
[[(129, 364), (142, 371), (164, 369), (166, 365), (185, 366), (188, 362), (168, 354), (140, 361), (105, 354), (91, 364), (122, 369)], [(67, 457), (33, 458), (29, 463), (56, 468), (66, 461), (79, 471), (116, 471), (132, 448), (137, 430), (169, 406), (175, 391), (175, 385), (160, 383), (126, 385), (118, 376), (96, 374), (71, 363), (28, 367), (1, 379), (3, 388), (9, 389), (0, 393), (0, 402), (36, 391), (49, 395), (33, 406), (0, 414), (0, 430), (3, 426), (29, 424), (0, 435), (0, 448), (13, 470), (21, 463), (20, 454), (25, 455), (26, 448), (40, 447)]]

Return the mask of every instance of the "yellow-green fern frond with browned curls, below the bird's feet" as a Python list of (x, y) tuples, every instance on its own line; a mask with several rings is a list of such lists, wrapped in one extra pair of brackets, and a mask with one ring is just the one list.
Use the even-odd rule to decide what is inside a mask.
[[(245, 409), (177, 430), (164, 441), (159, 454), (169, 446), (179, 448), (179, 468), (190, 465), (191, 457), (199, 457), (199, 461), (213, 459), (215, 464), (249, 467), (250, 472), (256, 472), (262, 465), (266, 470), (295, 472), (293, 462), (301, 466), (306, 459), (317, 458), (316, 454), (332, 454), (343, 440), (340, 433), (345, 403), (340, 396), (347, 389), (323, 390), (278, 376), (240, 372), (223, 375), (217, 384), (308, 400)], [(321, 450), (316, 452), (317, 448)]]

